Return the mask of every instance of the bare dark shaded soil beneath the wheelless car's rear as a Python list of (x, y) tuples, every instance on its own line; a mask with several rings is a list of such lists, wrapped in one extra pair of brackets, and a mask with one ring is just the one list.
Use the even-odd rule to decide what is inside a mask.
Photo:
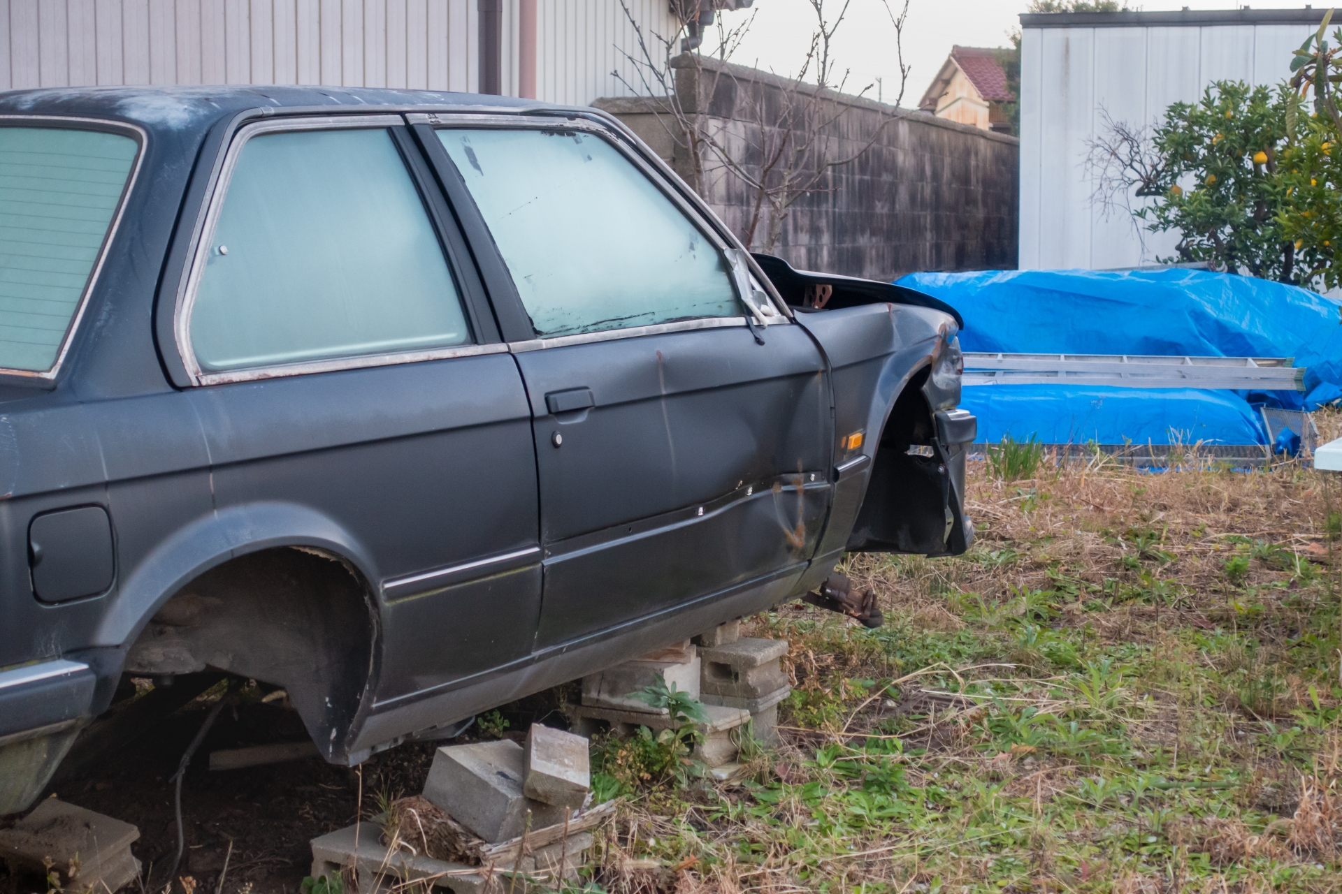
[[(542, 693), (502, 708), (501, 714), (510, 724), (505, 735), (521, 741), (527, 726), (541, 718), (546, 725), (564, 728), (557, 698), (558, 693)], [(103, 756), (78, 777), (44, 793), (134, 823), (140, 840), (132, 850), (144, 865), (148, 891), (161, 891), (168, 882), (168, 867), (177, 852), (174, 787), (169, 779), (177, 772), (209, 706), (201, 700), (189, 704), (136, 743)], [(267, 767), (209, 771), (212, 751), (305, 739), (307, 732), (298, 714), (278, 704), (252, 701), (224, 708), (192, 757), (183, 781), (187, 848), (177, 877), (189, 875), (197, 891), (213, 894), (228, 856), (225, 894), (244, 890), (297, 894), (311, 870), (313, 838), (349, 826), (360, 812), (366, 820), (380, 811), (380, 803), (417, 795), (435, 749), (448, 744), (407, 743), (374, 755), (360, 768), (307, 757)], [(451, 744), (479, 739), (472, 726)], [(0, 863), (0, 890), (42, 894), (47, 889), (40, 875), (11, 878)], [(176, 885), (174, 891), (180, 890)]]

